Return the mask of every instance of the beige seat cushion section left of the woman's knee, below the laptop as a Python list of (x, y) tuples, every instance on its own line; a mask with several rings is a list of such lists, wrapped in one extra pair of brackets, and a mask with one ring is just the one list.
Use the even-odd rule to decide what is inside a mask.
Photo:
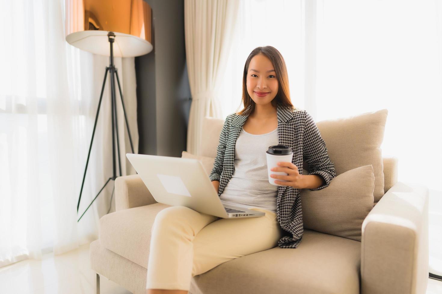
[(108, 213), (99, 221), (102, 246), (147, 268), (152, 224), (158, 212), (170, 207), (154, 203)]

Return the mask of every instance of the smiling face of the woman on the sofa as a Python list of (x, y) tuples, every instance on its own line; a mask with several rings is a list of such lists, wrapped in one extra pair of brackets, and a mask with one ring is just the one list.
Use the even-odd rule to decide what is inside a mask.
[[(246, 84), (247, 92), (256, 104), (265, 105), (274, 99), (278, 93), (278, 80), (270, 59), (262, 54), (253, 56), (247, 69)], [(267, 94), (259, 96), (259, 93)]]

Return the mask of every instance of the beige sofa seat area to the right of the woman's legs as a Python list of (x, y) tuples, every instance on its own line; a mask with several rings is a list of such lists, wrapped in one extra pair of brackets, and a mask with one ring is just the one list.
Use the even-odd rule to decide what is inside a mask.
[(192, 294), (359, 294), (361, 242), (305, 230), (296, 249), (233, 259), (191, 281)]

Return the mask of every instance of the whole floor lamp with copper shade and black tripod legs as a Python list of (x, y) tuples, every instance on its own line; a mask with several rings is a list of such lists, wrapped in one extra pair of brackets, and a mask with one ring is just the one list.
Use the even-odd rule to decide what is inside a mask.
[(92, 142), (103, 98), (104, 86), (107, 74), (110, 77), (110, 103), (112, 116), (112, 164), (113, 175), (99, 190), (97, 196), (91, 201), (88, 208), (83, 212), (77, 222), (88, 211), (92, 203), (106, 187), (110, 180), (117, 178), (115, 160), (115, 135), (117, 139), (118, 167), (120, 176), (121, 159), (120, 144), (118, 140), (117, 104), (115, 91), (115, 78), (123, 106), (124, 118), (129, 134), (130, 147), (133, 151), (132, 138), (127, 122), (126, 109), (124, 108), (123, 95), (117, 69), (114, 66), (114, 57), (133, 57), (145, 55), (152, 51), (152, 10), (144, 0), (66, 0), (66, 41), (82, 50), (98, 55), (109, 56), (109, 67), (104, 73), (103, 86), (98, 102), (95, 124), (92, 131), (91, 144), (89, 146), (88, 159), (84, 168), (83, 182), (81, 183), (80, 196), (78, 197), (77, 213), (80, 207), (81, 194), (83, 192), (84, 179), (88, 169), (89, 156), (91, 155)]

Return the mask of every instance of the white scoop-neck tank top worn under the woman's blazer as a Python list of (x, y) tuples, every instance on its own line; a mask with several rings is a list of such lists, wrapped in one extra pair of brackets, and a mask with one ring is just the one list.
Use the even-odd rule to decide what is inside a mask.
[(240, 131), (233, 174), (220, 195), (221, 200), (276, 212), (278, 186), (269, 183), (266, 151), (269, 146), (278, 145), (277, 130), (262, 135)]

